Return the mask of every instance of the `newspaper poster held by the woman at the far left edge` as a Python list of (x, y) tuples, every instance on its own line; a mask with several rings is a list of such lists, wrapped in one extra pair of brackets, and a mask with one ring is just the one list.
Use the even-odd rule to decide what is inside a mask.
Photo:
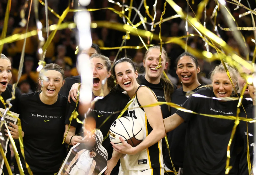
[[(3, 114), (4, 114), (4, 112), (5, 112), (5, 109), (0, 108), (0, 112), (1, 112), (1, 114), (2, 114), (1, 116), (3, 116)], [(9, 112), (10, 112), (12, 115), (15, 115), (16, 117), (19, 117), (19, 114), (15, 113), (15, 112), (11, 112), (11, 111), (9, 111)], [(0, 118), (0, 119), (1, 119), (1, 118)], [(12, 116), (10, 116), (10, 115), (8, 115), (8, 114), (6, 114), (6, 116), (5, 116), (5, 122), (6, 122), (6, 125), (7, 125), (7, 126), (10, 126), (10, 127), (11, 127), (11, 125), (7, 123), (8, 121), (11, 122), (11, 123), (13, 123), (13, 124), (16, 124), (17, 120), (18, 120), (17, 118), (14, 118), (14, 117), (12, 117)], [(0, 132), (3, 134), (3, 138), (5, 139), (5, 141), (3, 141), (3, 144), (2, 144), (2, 143), (1, 143), (1, 144), (2, 144), (2, 147), (3, 147), (3, 151), (5, 152), (5, 155), (6, 155), (10, 138), (5, 135), (6, 132), (5, 132), (5, 125), (4, 125), (4, 124), (3, 124), (3, 126), (2, 126)], [(5, 161), (3, 160), (3, 157), (2, 157), (2, 155), (1, 155), (1, 153), (0, 153), (0, 162), (2, 162), (2, 163), (1, 163), (1, 169), (0, 169), (0, 175), (1, 175), (1, 174), (2, 174), (3, 165), (4, 165), (4, 163), (5, 163)]]

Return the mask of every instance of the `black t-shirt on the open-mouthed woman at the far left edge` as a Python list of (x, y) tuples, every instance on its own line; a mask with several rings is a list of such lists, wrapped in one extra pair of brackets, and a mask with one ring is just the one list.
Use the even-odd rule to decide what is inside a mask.
[[(1, 96), (3, 97), (3, 99), (5, 101), (7, 99), (11, 98), (11, 96), (12, 96), (11, 92), (12, 92), (12, 85), (8, 84), (7, 87), (6, 87), (5, 92), (1, 93)], [(16, 88), (15, 89), (15, 99), (10, 101), (10, 103), (13, 105), (10, 109), (11, 112), (18, 113), (18, 99), (19, 99), (20, 95), (21, 95), (21, 92), (19, 91), (18, 88)], [(0, 108), (5, 109), (5, 106), (3, 105), (3, 103), (1, 101), (0, 101)], [(3, 127), (5, 127), (5, 126), (3, 125)], [(3, 133), (3, 134), (5, 134), (5, 133)], [(9, 146), (7, 147), (6, 158), (7, 158), (8, 161), (10, 161), (10, 159), (11, 159), (11, 151), (10, 151)], [(2, 163), (2, 162), (0, 162), (0, 163)], [(3, 173), (8, 174), (5, 164), (3, 165)]]

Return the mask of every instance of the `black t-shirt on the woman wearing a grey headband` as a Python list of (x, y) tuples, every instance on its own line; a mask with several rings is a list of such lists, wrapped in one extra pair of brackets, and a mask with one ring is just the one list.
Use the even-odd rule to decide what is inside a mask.
[[(58, 172), (66, 154), (62, 141), (67, 98), (58, 94), (57, 101), (47, 105), (40, 100), (39, 93), (21, 95), (19, 117), (24, 132), (23, 143), (27, 164), (35, 175), (50, 175)], [(28, 174), (24, 160), (20, 157), (24, 172)], [(20, 174), (17, 166), (14, 173)]]

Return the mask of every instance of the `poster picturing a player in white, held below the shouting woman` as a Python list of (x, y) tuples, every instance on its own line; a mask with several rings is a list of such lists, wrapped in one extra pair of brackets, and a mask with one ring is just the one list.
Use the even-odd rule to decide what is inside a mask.
[(107, 169), (107, 151), (101, 145), (101, 131), (97, 129), (92, 138), (86, 136), (83, 140), (84, 143), (70, 149), (58, 175), (101, 175)]

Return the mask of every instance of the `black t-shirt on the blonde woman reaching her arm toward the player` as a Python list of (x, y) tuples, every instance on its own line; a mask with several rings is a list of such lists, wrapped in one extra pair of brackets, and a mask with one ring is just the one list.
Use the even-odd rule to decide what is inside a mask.
[[(215, 97), (213, 90), (201, 88), (196, 91), (201, 95)], [(237, 112), (236, 101), (218, 101), (213, 99), (190, 96), (182, 107), (202, 114), (231, 115)], [(230, 140), (234, 120), (206, 117), (183, 111), (176, 112), (188, 123), (184, 147), (184, 175), (224, 175), (227, 159), (227, 145)], [(229, 174), (237, 174), (238, 165), (235, 164), (236, 153), (233, 144), (230, 148), (230, 166), (233, 168)]]

